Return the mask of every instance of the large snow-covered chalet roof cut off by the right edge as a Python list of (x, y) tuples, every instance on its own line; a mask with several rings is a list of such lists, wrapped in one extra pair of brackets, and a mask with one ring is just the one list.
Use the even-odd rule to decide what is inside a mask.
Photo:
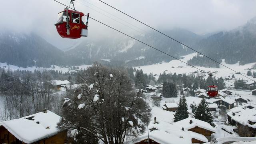
[[(254, 108), (247, 108), (248, 106), (252, 106)], [(240, 124), (246, 126), (250, 126), (252, 128), (256, 128), (256, 124), (249, 124), (248, 120), (252, 122), (256, 122), (256, 105), (254, 104), (246, 104), (244, 106), (238, 106), (232, 108), (227, 112), (227, 115), (232, 118), (232, 120), (239, 122)]]

